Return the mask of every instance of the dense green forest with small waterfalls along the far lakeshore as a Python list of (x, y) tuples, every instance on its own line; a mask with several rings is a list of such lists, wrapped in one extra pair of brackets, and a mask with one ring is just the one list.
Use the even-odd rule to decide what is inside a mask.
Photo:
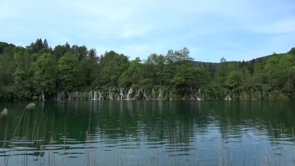
[(295, 48), (251, 61), (194, 61), (187, 48), (130, 60), (86, 46), (0, 42), (0, 100), (292, 100)]

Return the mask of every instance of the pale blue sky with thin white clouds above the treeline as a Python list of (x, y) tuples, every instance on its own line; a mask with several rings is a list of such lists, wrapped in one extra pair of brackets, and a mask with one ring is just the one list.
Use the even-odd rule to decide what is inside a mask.
[(187, 47), (196, 61), (251, 60), (295, 47), (295, 0), (3, 0), (0, 41), (46, 38), (146, 59)]

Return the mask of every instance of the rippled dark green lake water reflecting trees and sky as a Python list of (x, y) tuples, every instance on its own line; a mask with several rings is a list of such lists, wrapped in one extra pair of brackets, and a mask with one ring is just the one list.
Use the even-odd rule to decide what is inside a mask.
[(12, 139), (29, 102), (0, 102), (0, 166), (295, 164), (293, 101), (34, 103)]

